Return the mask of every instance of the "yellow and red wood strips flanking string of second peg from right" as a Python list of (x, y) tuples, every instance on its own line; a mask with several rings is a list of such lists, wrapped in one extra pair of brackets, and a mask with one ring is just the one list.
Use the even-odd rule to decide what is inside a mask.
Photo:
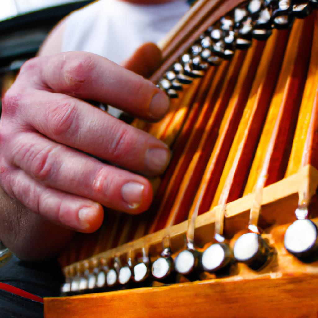
[(280, 77), (273, 96), (262, 136), (248, 176), (244, 194), (251, 193), (265, 161), (266, 150), (272, 138), (276, 122), (276, 140), (271, 157), (266, 184), (278, 181), (285, 174), (289, 158), (293, 127), (298, 114), (305, 84), (312, 41), (312, 16), (296, 20), (286, 49)]

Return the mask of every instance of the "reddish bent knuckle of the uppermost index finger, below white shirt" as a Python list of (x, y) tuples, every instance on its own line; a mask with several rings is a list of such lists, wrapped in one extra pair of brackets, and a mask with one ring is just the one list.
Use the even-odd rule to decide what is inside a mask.
[(72, 94), (80, 94), (84, 86), (87, 74), (95, 68), (95, 62), (91, 56), (83, 53), (75, 53), (63, 67), (66, 90)]

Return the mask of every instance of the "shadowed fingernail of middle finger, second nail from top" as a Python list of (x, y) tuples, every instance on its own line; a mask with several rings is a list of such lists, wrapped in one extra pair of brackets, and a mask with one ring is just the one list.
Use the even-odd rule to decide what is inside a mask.
[(154, 173), (162, 173), (170, 161), (170, 151), (164, 148), (153, 148), (146, 151), (146, 166)]

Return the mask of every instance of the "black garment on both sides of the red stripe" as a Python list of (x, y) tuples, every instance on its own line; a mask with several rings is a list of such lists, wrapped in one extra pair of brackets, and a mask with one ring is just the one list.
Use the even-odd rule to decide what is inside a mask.
[[(63, 274), (56, 259), (25, 262), (16, 256), (0, 268), (0, 282), (40, 297), (58, 296)], [(0, 290), (1, 318), (43, 318), (43, 304)]]

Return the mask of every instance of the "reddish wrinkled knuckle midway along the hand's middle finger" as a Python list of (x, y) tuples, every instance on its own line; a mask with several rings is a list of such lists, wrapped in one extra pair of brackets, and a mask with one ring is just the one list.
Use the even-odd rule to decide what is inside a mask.
[(65, 136), (72, 128), (77, 129), (75, 101), (61, 100), (48, 114), (48, 128), (54, 136)]

